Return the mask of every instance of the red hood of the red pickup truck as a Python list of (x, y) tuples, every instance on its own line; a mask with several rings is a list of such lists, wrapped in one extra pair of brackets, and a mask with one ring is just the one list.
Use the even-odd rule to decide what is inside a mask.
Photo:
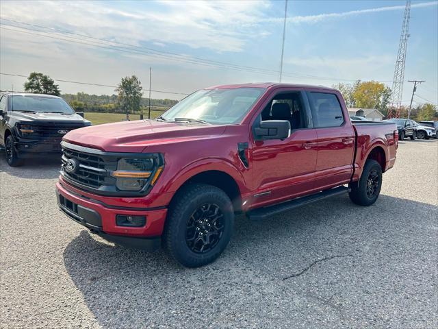
[(63, 141), (108, 152), (143, 152), (153, 145), (220, 136), (224, 125), (155, 120), (93, 125), (68, 132)]

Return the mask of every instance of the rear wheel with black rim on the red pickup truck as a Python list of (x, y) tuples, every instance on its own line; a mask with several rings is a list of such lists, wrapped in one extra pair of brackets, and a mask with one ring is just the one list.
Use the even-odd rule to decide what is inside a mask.
[(374, 204), (382, 188), (381, 165), (376, 160), (366, 160), (359, 184), (358, 182), (350, 183), (349, 187), (351, 191), (348, 194), (352, 202), (360, 206), (371, 206)]

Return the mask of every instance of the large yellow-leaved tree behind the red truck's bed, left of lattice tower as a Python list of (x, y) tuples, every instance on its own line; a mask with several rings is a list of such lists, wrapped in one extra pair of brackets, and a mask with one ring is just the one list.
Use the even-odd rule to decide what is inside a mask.
[(377, 108), (386, 111), (391, 97), (391, 89), (381, 82), (361, 82), (355, 88), (352, 96), (358, 108)]

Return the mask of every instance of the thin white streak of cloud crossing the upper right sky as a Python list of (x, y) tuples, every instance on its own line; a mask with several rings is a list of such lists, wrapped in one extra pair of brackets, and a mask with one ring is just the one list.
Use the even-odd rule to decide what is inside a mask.
[[(422, 3), (414, 3), (411, 5), (411, 8), (425, 8), (437, 5), (437, 1), (433, 2), (422, 2)], [(357, 16), (362, 14), (370, 14), (374, 12), (389, 12), (394, 10), (404, 10), (404, 5), (391, 5), (387, 7), (378, 7), (378, 8), (369, 8), (362, 10), (350, 10), (349, 12), (333, 12), (327, 14), (318, 14), (318, 15), (307, 15), (307, 16), (292, 16), (287, 19), (288, 23), (320, 23), (321, 21), (326, 21), (328, 19), (339, 19), (349, 16)], [(283, 18), (272, 18), (266, 19), (265, 21), (281, 23), (284, 21)]]

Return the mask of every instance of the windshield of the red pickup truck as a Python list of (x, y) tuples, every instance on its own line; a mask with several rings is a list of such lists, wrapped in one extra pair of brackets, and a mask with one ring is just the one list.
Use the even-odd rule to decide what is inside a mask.
[[(185, 97), (165, 112), (160, 119), (198, 122), (216, 125), (240, 123), (245, 114), (265, 92), (265, 88), (205, 89)], [(192, 122), (196, 122), (192, 120)]]

